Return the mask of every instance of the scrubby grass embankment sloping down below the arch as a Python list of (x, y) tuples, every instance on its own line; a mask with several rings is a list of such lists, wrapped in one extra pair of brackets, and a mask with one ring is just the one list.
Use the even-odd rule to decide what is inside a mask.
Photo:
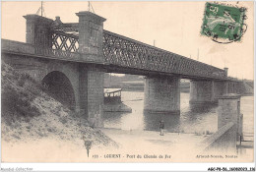
[(20, 73), (2, 62), (2, 141), (30, 142), (43, 138), (83, 143), (94, 141), (96, 146), (116, 146), (97, 129), (88, 126), (60, 102), (50, 97), (42, 86), (26, 73)]

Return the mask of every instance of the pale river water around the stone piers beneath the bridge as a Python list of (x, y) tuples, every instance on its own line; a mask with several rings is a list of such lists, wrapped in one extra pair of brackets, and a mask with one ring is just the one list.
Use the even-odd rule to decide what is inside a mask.
[[(144, 113), (144, 92), (122, 91), (121, 98), (132, 113), (105, 112), (105, 128), (159, 131), (163, 120), (166, 132), (203, 134), (218, 129), (218, 105), (191, 106), (189, 92), (180, 93), (180, 115)], [(241, 113), (244, 133), (253, 133), (253, 96), (241, 97)]]

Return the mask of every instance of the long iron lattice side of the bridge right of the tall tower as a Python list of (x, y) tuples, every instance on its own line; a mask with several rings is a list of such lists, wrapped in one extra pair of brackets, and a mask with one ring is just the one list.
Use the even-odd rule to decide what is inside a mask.
[(224, 70), (107, 30), (103, 31), (103, 54), (106, 63), (122, 67), (195, 77), (225, 78)]

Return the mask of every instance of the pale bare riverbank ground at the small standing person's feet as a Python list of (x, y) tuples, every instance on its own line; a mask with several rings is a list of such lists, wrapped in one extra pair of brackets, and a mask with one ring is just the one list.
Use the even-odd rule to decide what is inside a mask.
[[(101, 129), (101, 131), (116, 143), (120, 143), (119, 152), (122, 152), (122, 154), (169, 156), (169, 158), (163, 159), (146, 159), (158, 162), (193, 158), (197, 152), (197, 143), (200, 143), (205, 138), (205, 136), (178, 133), (165, 133), (164, 136), (160, 136), (159, 132), (154, 131), (123, 131), (115, 129)], [(137, 158), (126, 158), (126, 160), (138, 161)], [(145, 158), (143, 160), (145, 161)]]

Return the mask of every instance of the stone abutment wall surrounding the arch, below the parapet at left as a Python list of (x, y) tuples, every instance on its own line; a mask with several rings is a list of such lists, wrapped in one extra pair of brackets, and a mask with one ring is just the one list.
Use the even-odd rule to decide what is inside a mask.
[(60, 72), (64, 74), (73, 90), (75, 95), (76, 111), (80, 109), (79, 103), (79, 71), (78, 64), (72, 62), (63, 62), (58, 60), (35, 58), (30, 56), (23, 56), (17, 54), (2, 53), (2, 61), (12, 66), (14, 69), (28, 73), (32, 78), (41, 83), (42, 80), (51, 72)]

